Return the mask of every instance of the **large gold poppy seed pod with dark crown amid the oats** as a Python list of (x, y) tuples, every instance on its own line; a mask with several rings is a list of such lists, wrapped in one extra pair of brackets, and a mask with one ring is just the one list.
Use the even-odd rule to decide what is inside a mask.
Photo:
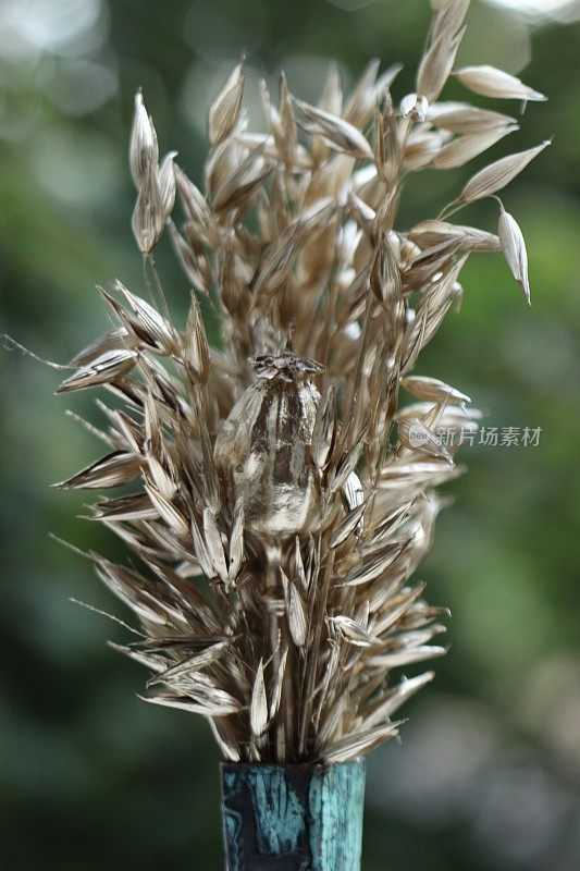
[(258, 380), (218, 436), (215, 465), (244, 505), (246, 528), (286, 537), (312, 528), (320, 505), (310, 449), (320, 394), (306, 377), (322, 367), (288, 353), (252, 363)]

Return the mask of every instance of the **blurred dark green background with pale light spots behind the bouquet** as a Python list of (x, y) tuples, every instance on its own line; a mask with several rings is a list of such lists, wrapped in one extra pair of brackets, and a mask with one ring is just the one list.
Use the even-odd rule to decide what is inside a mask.
[[(427, 0), (0, 2), (2, 329), (65, 360), (108, 327), (97, 283), (119, 277), (143, 293), (126, 163), (137, 86), (161, 148), (199, 180), (207, 107), (244, 48), (262, 124), (259, 79), (274, 83), (280, 66), (316, 99), (330, 58), (347, 84), (370, 57), (400, 60), (400, 98), (428, 17)], [(420, 572), (430, 601), (453, 611), (452, 648), (408, 704), (402, 744), (370, 758), (363, 871), (577, 871), (580, 4), (474, 0), (468, 21), (460, 63), (521, 72), (550, 96), (493, 154), (555, 137), (504, 198), (528, 242), (533, 308), (499, 255), (472, 257), (462, 310), (418, 372), (490, 409), (485, 426), (541, 437), (464, 449), (469, 474), (448, 488), (455, 504)], [(468, 98), (455, 84), (445, 96)], [(402, 225), (433, 217), (468, 174), (418, 176)], [(493, 230), (496, 211), (484, 203), (460, 220)], [(180, 311), (188, 287), (166, 241), (158, 261)], [(122, 555), (75, 518), (82, 495), (49, 489), (96, 456), (64, 416), (72, 405), (97, 420), (94, 396), (55, 400), (55, 372), (15, 352), (1, 361), (0, 868), (219, 869), (208, 728), (136, 698), (145, 673), (104, 645), (123, 630), (69, 599), (121, 608), (47, 537)]]

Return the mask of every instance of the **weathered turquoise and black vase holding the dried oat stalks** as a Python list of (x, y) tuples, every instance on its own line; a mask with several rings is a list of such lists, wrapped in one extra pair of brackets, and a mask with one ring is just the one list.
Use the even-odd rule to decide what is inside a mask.
[(223, 763), (226, 871), (360, 871), (365, 761)]

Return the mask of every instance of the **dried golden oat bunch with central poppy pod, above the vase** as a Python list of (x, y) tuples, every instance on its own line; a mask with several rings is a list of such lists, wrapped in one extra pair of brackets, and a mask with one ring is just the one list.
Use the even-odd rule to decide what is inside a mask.
[[(490, 66), (452, 72), (468, 2), (439, 0), (417, 93), (372, 62), (343, 97), (336, 68), (318, 106), (266, 86), (268, 135), (247, 130), (243, 65), (209, 111), (202, 193), (157, 136), (140, 94), (131, 140), (133, 230), (158, 305), (119, 282), (119, 327), (72, 361), (61, 393), (104, 385), (108, 453), (62, 488), (114, 488), (92, 517), (139, 568), (92, 555), (137, 615), (120, 648), (152, 673), (148, 700), (205, 715), (229, 760), (342, 761), (397, 734), (393, 714), (432, 672), (442, 609), (410, 578), (458, 475), (442, 428), (477, 427), (469, 398), (410, 375), (471, 252), (503, 248), (529, 295), (519, 228), (446, 220), (495, 196), (546, 143), (486, 165), (435, 220), (396, 226), (405, 176), (464, 164), (514, 118), (441, 102), (449, 75), (491, 97), (543, 99)], [(177, 194), (185, 223), (170, 214)], [(170, 320), (152, 250), (168, 226), (192, 294)], [(197, 295), (214, 307), (210, 347)], [(399, 406), (403, 388), (415, 402)], [(468, 421), (471, 421), (470, 424)]]

